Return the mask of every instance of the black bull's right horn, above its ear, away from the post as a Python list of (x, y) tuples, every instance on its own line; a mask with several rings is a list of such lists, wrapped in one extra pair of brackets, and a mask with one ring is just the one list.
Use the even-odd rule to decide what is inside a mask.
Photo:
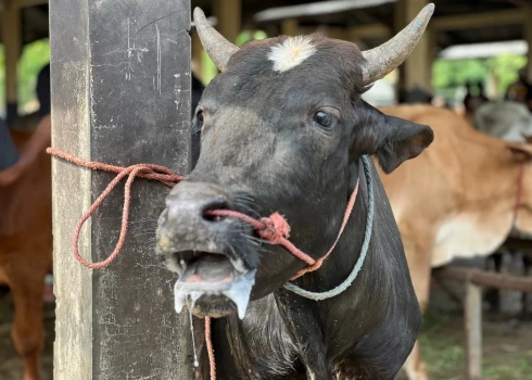
[(433, 12), (434, 4), (428, 4), (407, 27), (391, 40), (378, 48), (363, 52), (366, 59), (363, 66), (365, 86), (384, 77), (406, 60), (421, 39)]

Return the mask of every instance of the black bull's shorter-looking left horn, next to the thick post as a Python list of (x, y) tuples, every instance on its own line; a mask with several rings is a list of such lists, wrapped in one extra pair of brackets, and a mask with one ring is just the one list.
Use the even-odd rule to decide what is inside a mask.
[(220, 72), (225, 72), (232, 54), (238, 51), (238, 47), (225, 39), (208, 24), (205, 14), (200, 8), (194, 9), (194, 23), (203, 48), (205, 48), (216, 67)]

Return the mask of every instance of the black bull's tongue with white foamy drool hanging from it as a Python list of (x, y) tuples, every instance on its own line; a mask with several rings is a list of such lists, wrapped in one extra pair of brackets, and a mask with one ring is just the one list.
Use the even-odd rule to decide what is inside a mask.
[(241, 274), (235, 270), (226, 256), (206, 255), (189, 264), (177, 280), (174, 287), (176, 312), (180, 313), (186, 303), (193, 309), (195, 301), (202, 295), (225, 295), (235, 303), (242, 319), (254, 283), (255, 270)]

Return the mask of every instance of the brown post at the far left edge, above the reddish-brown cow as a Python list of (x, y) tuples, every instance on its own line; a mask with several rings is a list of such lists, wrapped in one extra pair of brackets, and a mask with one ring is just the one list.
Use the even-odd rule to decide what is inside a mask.
[(7, 1), (2, 12), (2, 38), (5, 54), (7, 121), (11, 125), (17, 114), (16, 65), (22, 51), (21, 9), (14, 1)]

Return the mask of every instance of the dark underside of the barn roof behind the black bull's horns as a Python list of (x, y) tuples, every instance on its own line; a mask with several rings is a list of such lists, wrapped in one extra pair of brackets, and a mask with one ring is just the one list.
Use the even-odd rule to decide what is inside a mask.
[[(31, 42), (48, 36), (47, 0), (11, 0), (23, 8), (23, 41)], [(0, 9), (4, 0), (0, 0)], [(213, 0), (191, 0), (192, 7), (201, 7), (207, 15), (212, 14)], [(389, 38), (393, 27), (393, 12), (396, 0), (242, 0), (244, 27), (259, 27), (273, 30), (283, 18), (296, 17), (300, 25), (355, 26), (382, 30), (380, 34), (366, 34), (362, 40), (368, 46), (382, 43)], [(442, 49), (453, 45), (511, 41), (522, 38), (522, 22), (525, 8), (532, 0), (433, 0), (435, 13), (432, 24), (449, 28), (438, 36)], [(290, 3), (287, 7), (287, 3)], [(472, 22), (468, 22), (468, 17)], [(498, 26), (482, 26), (482, 21), (493, 18)], [(275, 28), (274, 28), (275, 30)], [(0, 35), (0, 41), (3, 36)]]

